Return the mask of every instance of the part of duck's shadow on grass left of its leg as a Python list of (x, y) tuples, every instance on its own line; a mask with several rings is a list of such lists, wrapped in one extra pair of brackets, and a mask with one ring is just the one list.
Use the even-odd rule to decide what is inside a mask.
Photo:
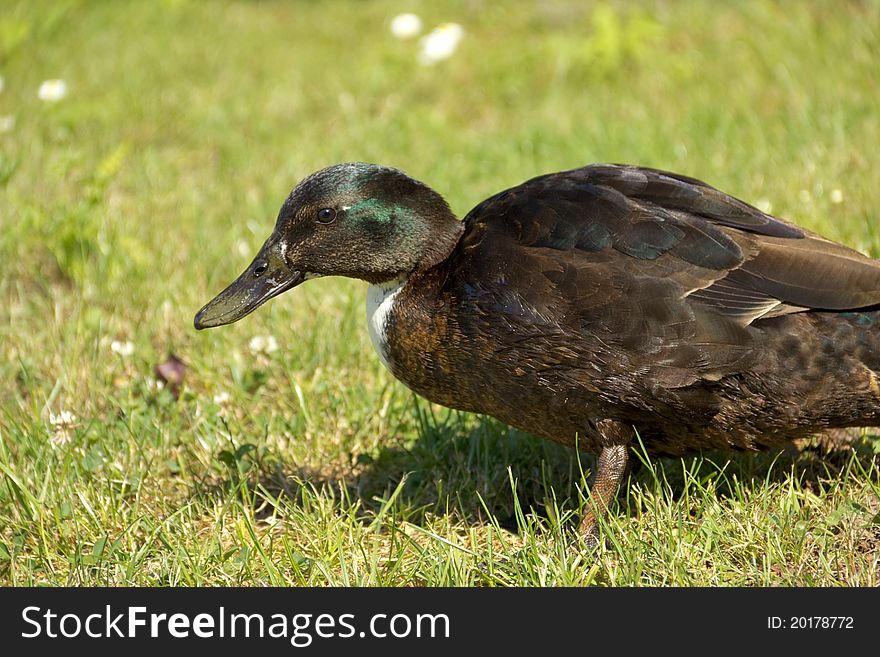
[[(395, 517), (423, 526), (429, 517), (454, 515), (482, 526), (494, 518), (516, 531), (515, 509), (547, 518), (554, 507), (576, 508), (580, 469), (590, 457), (509, 429), (489, 418), (451, 413), (442, 424), (422, 427), (408, 447), (382, 447), (361, 455), (350, 472), (328, 475), (320, 468), (275, 471), (262, 484), (296, 494), (305, 484), (359, 504), (370, 522), (395, 494)], [(290, 485), (290, 481), (299, 485)], [(399, 487), (399, 490), (398, 490)], [(301, 493), (300, 493), (301, 494)], [(491, 514), (491, 518), (490, 518)]]

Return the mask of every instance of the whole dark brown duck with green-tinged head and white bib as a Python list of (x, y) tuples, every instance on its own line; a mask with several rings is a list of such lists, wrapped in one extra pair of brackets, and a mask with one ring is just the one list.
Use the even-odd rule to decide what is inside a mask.
[(695, 178), (592, 164), (459, 220), (403, 171), (330, 166), (195, 328), (326, 276), (366, 281), (371, 342), (416, 394), (592, 453), (593, 541), (636, 445), (765, 450), (880, 425), (880, 261)]

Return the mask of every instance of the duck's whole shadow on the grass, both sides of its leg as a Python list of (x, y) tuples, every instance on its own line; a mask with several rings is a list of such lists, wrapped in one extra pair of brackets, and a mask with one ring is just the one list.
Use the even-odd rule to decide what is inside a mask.
[[(454, 515), (468, 526), (494, 520), (504, 529), (518, 531), (516, 508), (543, 522), (571, 511), (576, 524), (582, 505), (578, 486), (588, 476), (594, 457), (568, 447), (510, 429), (491, 419), (449, 412), (441, 419), (419, 408), (418, 439), (410, 447), (380, 448), (361, 455), (344, 473), (300, 467), (261, 467), (252, 484), (275, 496), (302, 503), (311, 490), (357, 505), (365, 523), (394, 498), (394, 517), (424, 526), (427, 519)], [(687, 482), (714, 480), (719, 499), (736, 497), (735, 482), (749, 487), (778, 484), (796, 477), (802, 486), (826, 489), (854, 470), (871, 472), (878, 459), (876, 436), (851, 436), (850, 441), (802, 441), (798, 446), (771, 452), (711, 451), (685, 458), (654, 458), (647, 465), (633, 455), (628, 484), (667, 489), (677, 500)], [(278, 459), (277, 462), (283, 462)], [(877, 470), (873, 472), (876, 474)], [(228, 490), (226, 485), (217, 492)], [(398, 490), (399, 489), (399, 490)], [(625, 513), (621, 504), (619, 513)], [(271, 508), (262, 513), (271, 514)]]

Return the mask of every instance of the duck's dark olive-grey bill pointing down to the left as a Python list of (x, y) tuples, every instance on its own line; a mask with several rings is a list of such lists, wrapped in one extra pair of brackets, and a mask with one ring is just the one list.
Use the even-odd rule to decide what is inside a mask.
[[(272, 297), (296, 287), (305, 280), (305, 273), (284, 266), (272, 266), (257, 257), (241, 276), (196, 313), (199, 330), (232, 324), (266, 303)], [(262, 268), (262, 271), (261, 271)]]

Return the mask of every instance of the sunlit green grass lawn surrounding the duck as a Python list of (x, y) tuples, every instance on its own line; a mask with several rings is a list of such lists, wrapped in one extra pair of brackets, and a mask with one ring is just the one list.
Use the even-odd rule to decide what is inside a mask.
[[(405, 10), (461, 23), (459, 51), (417, 64), (388, 31)], [(293, 184), (348, 160), (459, 214), (657, 166), (880, 256), (878, 63), (876, 2), (0, 0), (0, 582), (877, 586), (871, 433), (648, 462), (591, 553), (589, 458), (415, 398), (364, 284), (192, 316)], [(38, 100), (48, 78), (69, 95)]]

